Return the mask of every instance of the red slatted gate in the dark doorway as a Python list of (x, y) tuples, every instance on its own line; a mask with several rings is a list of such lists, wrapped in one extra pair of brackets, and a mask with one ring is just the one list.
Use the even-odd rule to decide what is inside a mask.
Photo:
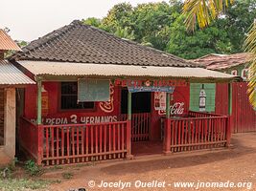
[[(122, 115), (120, 120), (127, 120), (128, 115)], [(131, 141), (146, 141), (150, 139), (151, 113), (131, 115)]]

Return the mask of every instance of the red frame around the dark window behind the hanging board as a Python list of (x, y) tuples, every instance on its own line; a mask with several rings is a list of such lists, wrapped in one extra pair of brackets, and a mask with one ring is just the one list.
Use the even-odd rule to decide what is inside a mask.
[(61, 83), (78, 83), (78, 81), (60, 81), (58, 83), (58, 112), (60, 113), (67, 113), (67, 112), (70, 112), (70, 113), (84, 113), (84, 112), (96, 112), (96, 105), (97, 105), (97, 102), (93, 102), (94, 105), (93, 105), (93, 108), (87, 108), (87, 109), (84, 109), (84, 108), (77, 108), (77, 109), (62, 109), (61, 108)]

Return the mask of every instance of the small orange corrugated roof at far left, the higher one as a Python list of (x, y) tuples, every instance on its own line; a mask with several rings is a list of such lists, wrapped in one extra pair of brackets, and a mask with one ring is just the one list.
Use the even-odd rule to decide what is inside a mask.
[(4, 30), (0, 29), (0, 50), (2, 51), (21, 51), (17, 44)]

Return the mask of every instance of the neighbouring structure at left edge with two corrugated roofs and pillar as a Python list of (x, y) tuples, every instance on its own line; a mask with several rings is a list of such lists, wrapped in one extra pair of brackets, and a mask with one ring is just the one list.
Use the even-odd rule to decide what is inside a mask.
[(9, 163), (15, 155), (16, 88), (35, 84), (4, 59), (8, 51), (21, 50), (5, 31), (0, 30), (0, 165)]

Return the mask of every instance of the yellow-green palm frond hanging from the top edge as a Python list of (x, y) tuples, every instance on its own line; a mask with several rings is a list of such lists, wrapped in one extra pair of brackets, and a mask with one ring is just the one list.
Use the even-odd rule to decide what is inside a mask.
[(233, 2), (234, 0), (185, 0), (183, 14), (186, 16), (188, 31), (195, 30), (197, 21), (199, 28), (205, 28)]

